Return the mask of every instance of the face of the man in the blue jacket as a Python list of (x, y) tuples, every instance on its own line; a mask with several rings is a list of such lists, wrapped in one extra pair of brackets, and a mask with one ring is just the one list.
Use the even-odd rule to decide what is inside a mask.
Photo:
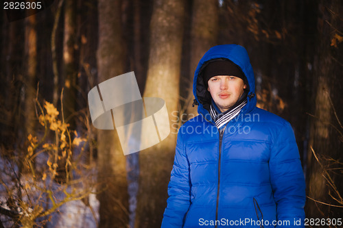
[(228, 75), (211, 77), (208, 84), (209, 88), (207, 90), (209, 90), (213, 101), (222, 112), (233, 106), (246, 88), (246, 84), (241, 78)]

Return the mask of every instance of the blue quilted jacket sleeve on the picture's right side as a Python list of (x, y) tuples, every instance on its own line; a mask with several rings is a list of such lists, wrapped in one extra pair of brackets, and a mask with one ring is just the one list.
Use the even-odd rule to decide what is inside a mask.
[[(280, 130), (279, 136), (272, 142), (269, 162), (277, 220), (288, 220), (289, 226), (286, 227), (305, 227), (305, 178), (298, 147), (288, 122)], [(295, 220), (300, 220), (301, 225), (294, 223)]]

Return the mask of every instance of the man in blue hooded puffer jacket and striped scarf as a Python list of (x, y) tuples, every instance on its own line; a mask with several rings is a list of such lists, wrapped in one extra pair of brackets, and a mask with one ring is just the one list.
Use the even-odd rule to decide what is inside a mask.
[(283, 118), (256, 107), (244, 47), (207, 51), (193, 94), (200, 115), (179, 129), (162, 227), (304, 227), (294, 133)]

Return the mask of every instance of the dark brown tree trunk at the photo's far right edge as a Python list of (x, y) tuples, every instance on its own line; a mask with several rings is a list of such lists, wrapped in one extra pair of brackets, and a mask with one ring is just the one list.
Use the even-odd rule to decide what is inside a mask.
[[(318, 15), (318, 39), (314, 62), (314, 117), (311, 118), (307, 195), (316, 201), (342, 207), (342, 176), (333, 172), (342, 164), (333, 164), (333, 160), (342, 161), (342, 114), (340, 97), (342, 95), (343, 43), (333, 44), (335, 34), (342, 31), (343, 7), (340, 1), (320, 1)], [(342, 35), (342, 34), (341, 34)], [(333, 45), (330, 46), (330, 43)], [(337, 116), (336, 116), (337, 115)], [(341, 122), (340, 122), (341, 121)], [(313, 151), (312, 151), (313, 149)], [(317, 162), (316, 157), (319, 162)], [(330, 157), (333, 160), (329, 160)], [(339, 166), (340, 165), (340, 166)], [(330, 168), (330, 169), (329, 169)], [(329, 181), (337, 191), (329, 186)], [(340, 193), (338, 193), (340, 192)], [(329, 195), (331, 194), (331, 196)], [(335, 201), (333, 199), (340, 199)], [(342, 208), (323, 205), (309, 199), (306, 205), (308, 218), (339, 218)]]

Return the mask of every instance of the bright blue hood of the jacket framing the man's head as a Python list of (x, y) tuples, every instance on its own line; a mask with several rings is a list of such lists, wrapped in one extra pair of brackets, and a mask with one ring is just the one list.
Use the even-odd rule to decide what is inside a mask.
[(208, 111), (211, 103), (211, 94), (204, 86), (201, 72), (202, 69), (204, 69), (204, 66), (217, 59), (230, 60), (239, 66), (244, 75), (246, 75), (249, 85), (248, 103), (242, 108), (241, 112), (250, 112), (257, 102), (255, 96), (255, 76), (246, 49), (240, 45), (217, 45), (209, 49), (209, 51), (202, 56), (193, 79), (193, 95), (196, 101), (198, 101), (198, 113), (202, 114), (208, 121), (211, 121)]

